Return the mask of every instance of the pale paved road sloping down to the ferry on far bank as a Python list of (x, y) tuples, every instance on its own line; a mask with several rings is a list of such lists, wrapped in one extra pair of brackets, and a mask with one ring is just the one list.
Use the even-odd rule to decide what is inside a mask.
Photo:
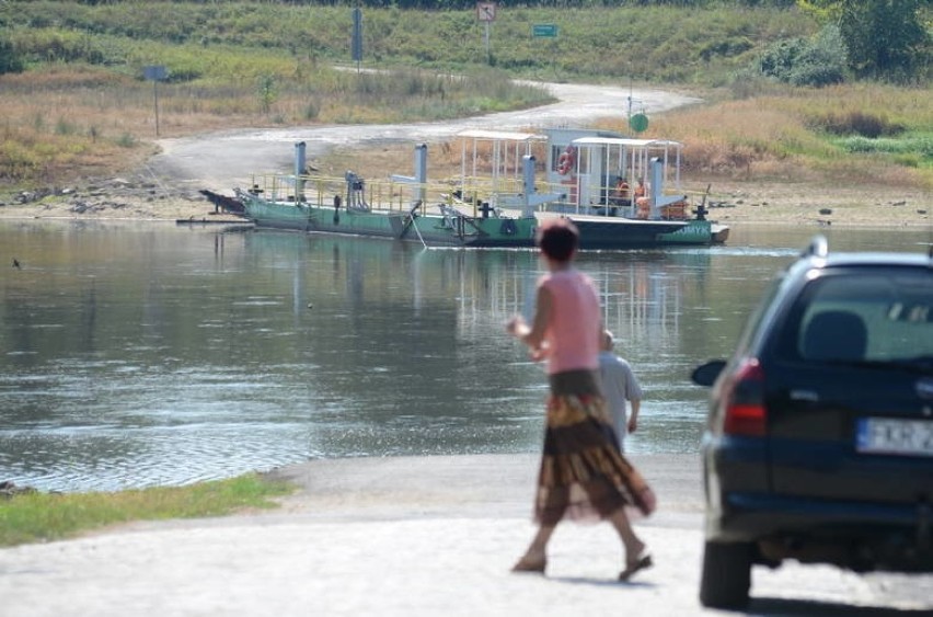
[[(335, 146), (365, 148), (385, 142), (438, 142), (468, 128), (516, 130), (588, 126), (595, 118), (626, 117), (634, 110), (660, 113), (700, 100), (663, 90), (630, 90), (611, 85), (543, 83), (558, 101), (551, 105), (442, 123), (334, 125), (278, 129), (241, 129), (180, 139), (162, 139), (162, 153), (149, 161), (153, 174), (193, 190), (230, 193), (249, 186), (255, 174), (291, 169), (295, 144), (304, 141), (307, 156), (320, 157)], [(429, 156), (429, 155), (428, 155)], [(399, 173), (410, 173), (410, 158), (399, 161)]]

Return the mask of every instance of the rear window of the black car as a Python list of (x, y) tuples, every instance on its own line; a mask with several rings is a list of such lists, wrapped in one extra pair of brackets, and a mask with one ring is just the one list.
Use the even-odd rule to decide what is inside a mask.
[(922, 268), (819, 276), (791, 315), (784, 352), (795, 359), (933, 358), (933, 274)]

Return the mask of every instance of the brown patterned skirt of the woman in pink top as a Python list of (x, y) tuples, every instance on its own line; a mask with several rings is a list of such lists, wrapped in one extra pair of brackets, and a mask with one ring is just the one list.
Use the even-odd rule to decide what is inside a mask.
[(558, 373), (550, 382), (535, 522), (596, 522), (620, 507), (634, 515), (654, 512), (654, 492), (619, 452), (598, 373)]

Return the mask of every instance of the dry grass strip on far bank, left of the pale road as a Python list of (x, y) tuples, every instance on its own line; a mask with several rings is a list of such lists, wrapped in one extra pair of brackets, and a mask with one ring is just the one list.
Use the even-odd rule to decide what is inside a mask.
[(489, 92), (500, 93), (509, 105), (546, 100), (542, 90), (511, 85), (500, 73), (357, 76), (327, 67), (314, 71), (313, 80), (304, 80), (308, 68), (301, 61), (288, 66), (296, 73), (290, 80), (280, 77), (281, 67), (279, 73), (267, 76), (273, 84), (268, 96), (250, 78), (157, 87), (105, 69), (58, 65), (2, 75), (0, 183), (36, 187), (124, 174), (152, 152), (157, 137), (237, 127), (451, 117), (466, 108), (497, 110), (500, 102)]

